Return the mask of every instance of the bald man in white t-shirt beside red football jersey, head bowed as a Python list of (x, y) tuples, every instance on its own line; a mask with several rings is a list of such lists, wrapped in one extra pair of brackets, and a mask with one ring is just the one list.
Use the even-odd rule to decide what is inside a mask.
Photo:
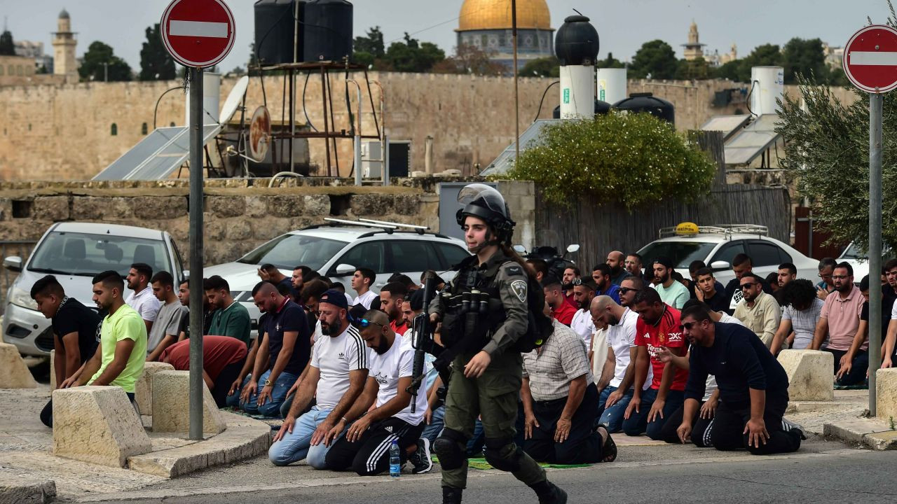
[[(598, 379), (598, 423), (614, 433), (623, 430), (623, 414), (632, 399), (634, 369), (627, 380), (630, 368), (631, 347), (635, 345), (635, 325), (639, 314), (623, 308), (610, 296), (598, 296), (592, 301), (592, 317), (607, 326), (607, 361)], [(649, 376), (652, 375), (648, 369)], [(650, 387), (646, 378), (644, 389)]]

